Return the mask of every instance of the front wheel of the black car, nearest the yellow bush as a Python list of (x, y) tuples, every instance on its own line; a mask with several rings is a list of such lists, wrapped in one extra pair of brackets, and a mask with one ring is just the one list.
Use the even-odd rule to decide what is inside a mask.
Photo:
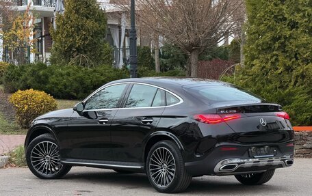
[(70, 165), (60, 163), (60, 148), (51, 134), (43, 134), (29, 143), (26, 150), (27, 165), (41, 179), (57, 179), (70, 171)]

